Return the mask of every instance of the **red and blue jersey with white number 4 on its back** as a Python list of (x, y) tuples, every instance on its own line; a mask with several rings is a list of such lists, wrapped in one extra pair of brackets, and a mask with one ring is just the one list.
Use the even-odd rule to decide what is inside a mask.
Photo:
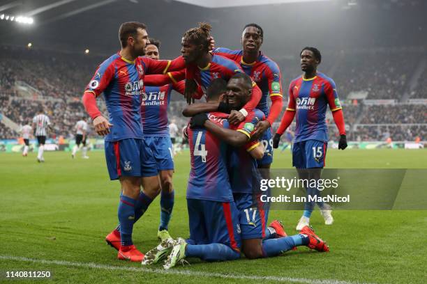
[[(229, 128), (227, 114), (208, 113), (209, 120)], [(233, 200), (227, 173), (228, 145), (204, 128), (187, 127), (191, 170), (187, 198), (231, 202)]]

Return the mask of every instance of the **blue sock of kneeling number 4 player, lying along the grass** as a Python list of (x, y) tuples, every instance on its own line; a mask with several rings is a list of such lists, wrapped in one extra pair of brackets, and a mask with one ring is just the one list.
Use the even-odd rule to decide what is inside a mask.
[(206, 261), (237, 260), (240, 253), (225, 244), (187, 244), (186, 257), (201, 258)]

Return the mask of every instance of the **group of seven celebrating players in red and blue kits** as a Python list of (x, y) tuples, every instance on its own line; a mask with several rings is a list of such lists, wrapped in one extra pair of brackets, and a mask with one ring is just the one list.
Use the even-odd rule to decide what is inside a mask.
[[(160, 60), (160, 43), (148, 37), (144, 24), (123, 23), (121, 51), (100, 64), (84, 92), (83, 104), (93, 126), (105, 135), (110, 179), (121, 184), (119, 224), (107, 235), (107, 243), (117, 249), (121, 260), (143, 265), (165, 260), (165, 269), (188, 257), (236, 260), (243, 253), (250, 259), (265, 258), (297, 246), (329, 251), (309, 226), (314, 203), (304, 207), (299, 234), (288, 236), (278, 220), (267, 226), (269, 206), (259, 198), (259, 182), (269, 178), (273, 148), (278, 148), (294, 116), (292, 164), (300, 177), (320, 178), (327, 152), (328, 104), (340, 132), (338, 148), (347, 147), (336, 86), (317, 72), (320, 52), (314, 47), (302, 49), (304, 74), (290, 84), (289, 103), (273, 135), (271, 125), (282, 110), (283, 90), (278, 65), (260, 52), (262, 28), (244, 26), (241, 50), (214, 47), (210, 31), (207, 23), (186, 31), (182, 55), (167, 61)], [(174, 150), (167, 119), (172, 89), (188, 102), (183, 109), (183, 116), (189, 118), (184, 136), (191, 166), (186, 191), (188, 239), (172, 239), (168, 232), (174, 207)], [(96, 106), (101, 93), (109, 119)], [(206, 102), (195, 103), (202, 97)], [(316, 188), (306, 191), (320, 195)], [(160, 244), (144, 254), (133, 244), (133, 226), (159, 194)], [(331, 207), (317, 205), (331, 225)]]

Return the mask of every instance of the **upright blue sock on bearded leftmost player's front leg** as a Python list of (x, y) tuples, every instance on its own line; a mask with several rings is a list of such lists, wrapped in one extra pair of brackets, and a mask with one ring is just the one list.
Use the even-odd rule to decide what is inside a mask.
[(136, 200), (128, 196), (121, 196), (117, 215), (120, 222), (120, 239), (122, 246), (130, 246), (132, 242), (133, 222), (135, 219)]

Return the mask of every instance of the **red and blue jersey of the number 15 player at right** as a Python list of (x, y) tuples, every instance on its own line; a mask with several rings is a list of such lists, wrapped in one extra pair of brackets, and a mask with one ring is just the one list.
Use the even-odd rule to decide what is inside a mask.
[(327, 104), (331, 111), (342, 109), (334, 80), (325, 74), (317, 72), (312, 79), (304, 79), (301, 75), (291, 82), (286, 110), (297, 111), (294, 142), (328, 141)]

